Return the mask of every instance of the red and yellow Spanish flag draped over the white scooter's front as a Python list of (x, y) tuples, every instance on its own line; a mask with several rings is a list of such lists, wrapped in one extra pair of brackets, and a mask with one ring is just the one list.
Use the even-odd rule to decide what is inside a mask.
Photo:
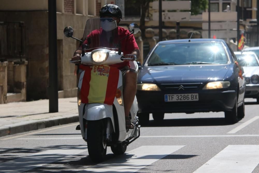
[(107, 65), (85, 66), (81, 87), (82, 103), (112, 105), (119, 81), (119, 70)]

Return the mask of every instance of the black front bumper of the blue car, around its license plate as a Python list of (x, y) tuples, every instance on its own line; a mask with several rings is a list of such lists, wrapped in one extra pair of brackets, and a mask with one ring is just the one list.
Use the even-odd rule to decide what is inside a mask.
[(137, 91), (139, 112), (153, 113), (194, 113), (194, 112), (221, 112), (231, 110), (235, 105), (236, 91), (202, 91), (198, 93), (198, 101), (165, 102), (162, 91)]

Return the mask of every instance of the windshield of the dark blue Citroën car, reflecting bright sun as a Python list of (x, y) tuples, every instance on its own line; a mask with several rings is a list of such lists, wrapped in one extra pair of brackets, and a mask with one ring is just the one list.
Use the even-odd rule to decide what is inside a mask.
[(188, 42), (158, 45), (148, 60), (148, 66), (227, 62), (227, 54), (220, 42)]

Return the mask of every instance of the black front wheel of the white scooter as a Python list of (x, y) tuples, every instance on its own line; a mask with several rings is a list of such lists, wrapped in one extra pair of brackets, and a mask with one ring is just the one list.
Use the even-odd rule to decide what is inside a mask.
[(102, 162), (106, 155), (104, 120), (87, 122), (87, 148), (93, 162)]

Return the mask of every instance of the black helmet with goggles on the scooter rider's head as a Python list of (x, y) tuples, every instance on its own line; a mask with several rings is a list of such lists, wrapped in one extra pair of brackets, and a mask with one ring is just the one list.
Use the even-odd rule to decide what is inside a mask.
[(99, 11), (99, 16), (100, 17), (111, 16), (111, 17), (118, 17), (120, 20), (122, 19), (122, 13), (120, 8), (114, 4), (104, 5)]

